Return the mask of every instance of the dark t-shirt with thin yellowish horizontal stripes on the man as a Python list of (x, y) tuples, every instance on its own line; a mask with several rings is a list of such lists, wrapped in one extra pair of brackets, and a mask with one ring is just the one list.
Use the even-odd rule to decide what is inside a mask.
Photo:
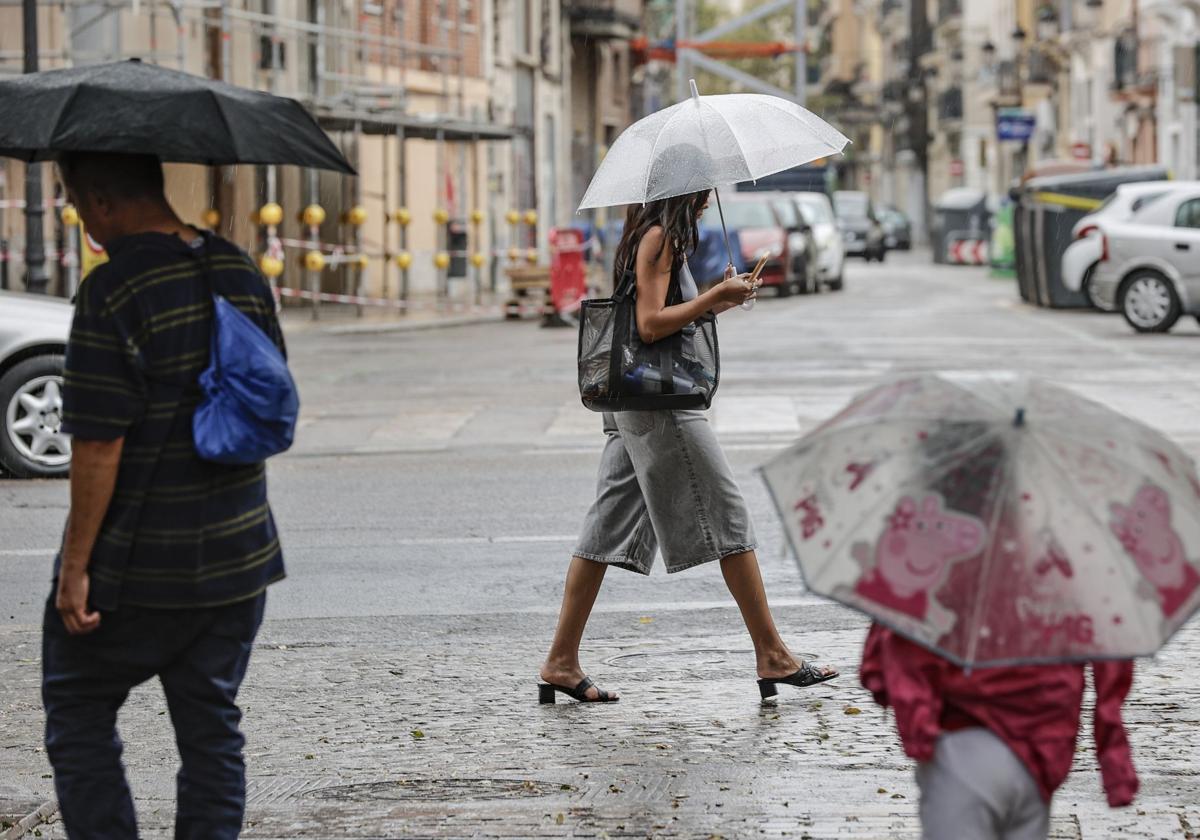
[(202, 460), (192, 443), (216, 294), (280, 349), (270, 288), (235, 245), (144, 233), (108, 246), (83, 282), (67, 344), (64, 428), (125, 438), (89, 565), (95, 608), (200, 607), (253, 598), (283, 577), (264, 464)]

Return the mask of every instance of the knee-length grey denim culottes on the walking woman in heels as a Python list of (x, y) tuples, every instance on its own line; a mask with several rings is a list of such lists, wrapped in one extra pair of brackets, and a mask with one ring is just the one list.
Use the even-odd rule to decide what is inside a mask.
[(604, 414), (596, 500), (576, 557), (650, 574), (662, 551), (668, 572), (755, 547), (754, 524), (703, 412)]

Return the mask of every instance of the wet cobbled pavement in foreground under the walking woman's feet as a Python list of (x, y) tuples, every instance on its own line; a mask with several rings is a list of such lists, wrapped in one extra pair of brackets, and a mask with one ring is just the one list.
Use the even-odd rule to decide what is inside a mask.
[[(776, 613), (844, 678), (761, 706), (734, 610), (598, 613), (586, 661), (622, 702), (540, 707), (548, 612), (271, 622), (242, 692), (245, 836), (918, 836), (911, 763), (857, 684), (862, 618), (822, 602)], [(1088, 714), (1051, 836), (1200, 836), (1200, 673), (1184, 653), (1198, 641), (1192, 625), (1139, 668), (1135, 806), (1105, 805)], [(38, 803), (53, 793), (38, 634), (0, 631), (0, 778)], [(121, 726), (144, 836), (169, 836), (175, 750), (156, 686)], [(38, 830), (65, 836), (53, 818)]]

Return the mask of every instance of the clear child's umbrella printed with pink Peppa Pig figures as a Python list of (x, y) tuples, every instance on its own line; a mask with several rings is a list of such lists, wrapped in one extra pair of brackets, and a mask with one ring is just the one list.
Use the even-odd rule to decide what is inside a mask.
[(762, 473), (810, 589), (962, 666), (1150, 655), (1200, 606), (1192, 458), (1045, 382), (895, 378)]

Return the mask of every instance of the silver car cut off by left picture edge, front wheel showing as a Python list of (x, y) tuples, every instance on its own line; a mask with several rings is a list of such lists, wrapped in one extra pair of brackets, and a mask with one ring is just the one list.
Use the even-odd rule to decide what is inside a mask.
[(71, 304), (0, 292), (0, 473), (53, 478), (71, 468), (62, 433), (62, 359)]

